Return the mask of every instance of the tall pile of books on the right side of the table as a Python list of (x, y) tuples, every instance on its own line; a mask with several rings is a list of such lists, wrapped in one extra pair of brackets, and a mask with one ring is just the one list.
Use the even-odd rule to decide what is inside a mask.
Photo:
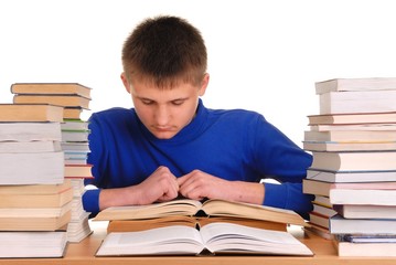
[(315, 92), (320, 114), (303, 140), (310, 222), (340, 256), (396, 256), (396, 78), (330, 80)]

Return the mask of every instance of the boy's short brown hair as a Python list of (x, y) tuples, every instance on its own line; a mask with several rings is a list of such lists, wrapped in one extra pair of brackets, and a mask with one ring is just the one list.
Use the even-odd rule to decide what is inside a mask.
[(178, 82), (199, 84), (207, 67), (201, 32), (186, 20), (160, 15), (141, 22), (122, 47), (127, 78), (172, 87)]

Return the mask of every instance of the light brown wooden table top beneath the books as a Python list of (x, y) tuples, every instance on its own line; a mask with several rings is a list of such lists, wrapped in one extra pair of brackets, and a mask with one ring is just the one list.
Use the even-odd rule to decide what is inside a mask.
[(322, 237), (304, 234), (301, 227), (292, 227), (292, 233), (297, 239), (304, 243), (313, 253), (313, 256), (138, 256), (138, 257), (95, 257), (95, 253), (106, 236), (106, 222), (90, 222), (93, 234), (81, 243), (69, 243), (66, 254), (62, 258), (11, 258), (0, 259), (0, 264), (106, 264), (106, 265), (125, 265), (125, 264), (150, 264), (150, 265), (193, 265), (193, 264), (395, 264), (396, 258), (390, 257), (339, 257), (333, 243)]

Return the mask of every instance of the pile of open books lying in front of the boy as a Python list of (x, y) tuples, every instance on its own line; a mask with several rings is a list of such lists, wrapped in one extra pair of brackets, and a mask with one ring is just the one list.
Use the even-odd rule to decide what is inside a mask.
[(180, 199), (108, 208), (94, 221), (109, 221), (97, 256), (313, 254), (287, 232), (287, 224), (306, 225), (300, 215), (263, 205)]

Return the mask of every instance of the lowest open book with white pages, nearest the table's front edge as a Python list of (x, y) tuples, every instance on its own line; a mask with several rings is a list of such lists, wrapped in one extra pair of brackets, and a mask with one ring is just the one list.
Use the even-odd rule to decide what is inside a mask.
[(288, 232), (218, 222), (201, 230), (171, 225), (139, 232), (109, 233), (96, 256), (200, 254), (313, 255)]

